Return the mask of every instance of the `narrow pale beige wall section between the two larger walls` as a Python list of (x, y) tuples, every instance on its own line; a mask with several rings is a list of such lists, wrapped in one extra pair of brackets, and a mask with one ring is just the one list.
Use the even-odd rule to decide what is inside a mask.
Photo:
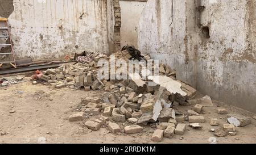
[[(147, 1), (147, 0), (146, 0)], [(120, 0), (122, 26), (121, 26), (121, 47), (125, 45), (137, 45), (138, 24), (142, 11), (146, 5), (145, 0)]]

